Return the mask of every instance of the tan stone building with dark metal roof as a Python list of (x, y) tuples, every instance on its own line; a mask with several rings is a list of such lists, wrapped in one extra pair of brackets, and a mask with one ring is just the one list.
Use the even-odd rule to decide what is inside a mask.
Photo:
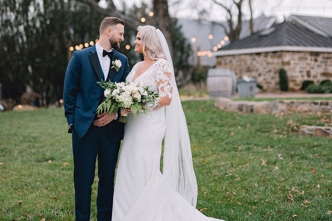
[[(327, 28), (330, 27), (330, 28)], [(285, 22), (219, 49), (217, 68), (255, 78), (264, 90), (279, 86), (279, 70), (286, 69), (289, 89), (304, 80), (332, 81), (332, 18), (290, 16)]]

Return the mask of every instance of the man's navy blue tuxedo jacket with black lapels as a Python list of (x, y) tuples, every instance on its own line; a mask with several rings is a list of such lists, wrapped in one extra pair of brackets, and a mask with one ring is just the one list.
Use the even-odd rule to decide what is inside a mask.
[[(129, 74), (127, 57), (114, 49), (112, 51), (114, 55), (107, 79), (104, 79), (96, 45), (74, 51), (68, 64), (64, 79), (63, 104), (68, 126), (74, 125), (74, 130), (79, 139), (90, 128), (94, 121), (97, 107), (104, 99), (104, 89), (96, 82), (101, 82), (102, 79), (106, 81), (111, 80), (112, 82), (124, 82)], [(120, 60), (122, 64), (118, 72), (115, 68), (111, 69), (113, 66), (112, 61), (116, 59)], [(119, 122), (119, 117), (105, 126), (114, 142), (123, 139), (124, 123)], [(71, 133), (71, 130), (72, 127), (68, 130), (68, 133)]]

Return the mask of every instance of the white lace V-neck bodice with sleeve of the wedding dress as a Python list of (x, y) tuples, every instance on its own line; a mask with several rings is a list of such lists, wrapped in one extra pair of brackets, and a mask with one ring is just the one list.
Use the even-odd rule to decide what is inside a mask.
[[(135, 64), (128, 74), (126, 81), (131, 82), (136, 70), (141, 62)], [(141, 86), (150, 86), (149, 90), (159, 94), (159, 100), (172, 98), (172, 70), (165, 59), (159, 59), (154, 62), (145, 72), (138, 76), (134, 83), (140, 83)], [(158, 100), (158, 101), (159, 101)], [(157, 101), (157, 102), (158, 102)], [(157, 104), (145, 104), (149, 109), (153, 109)]]

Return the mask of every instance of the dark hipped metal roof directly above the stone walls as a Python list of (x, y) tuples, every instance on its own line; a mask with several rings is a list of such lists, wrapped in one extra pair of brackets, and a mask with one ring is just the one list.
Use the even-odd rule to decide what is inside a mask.
[(220, 48), (219, 51), (275, 46), (332, 47), (332, 38), (317, 34), (295, 22), (283, 22), (235, 41)]

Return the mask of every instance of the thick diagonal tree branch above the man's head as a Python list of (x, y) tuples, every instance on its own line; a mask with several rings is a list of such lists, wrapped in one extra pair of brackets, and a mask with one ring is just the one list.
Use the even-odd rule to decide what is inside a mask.
[(117, 11), (117, 9), (114, 6), (113, 0), (109, 0), (108, 3), (112, 5), (112, 7), (109, 7), (107, 9), (103, 9), (101, 8), (98, 3), (94, 0), (77, 0), (79, 2), (83, 2), (87, 5), (89, 5), (90, 7), (92, 7), (93, 9), (96, 10), (96, 12), (99, 12), (102, 15), (105, 16), (113, 16), (113, 17), (118, 17), (122, 20), (124, 20), (125, 24), (127, 27), (129, 27), (132, 30), (137, 30), (137, 26), (139, 26), (140, 24), (135, 21), (134, 19), (125, 16), (123, 14), (121, 14), (119, 11)]

